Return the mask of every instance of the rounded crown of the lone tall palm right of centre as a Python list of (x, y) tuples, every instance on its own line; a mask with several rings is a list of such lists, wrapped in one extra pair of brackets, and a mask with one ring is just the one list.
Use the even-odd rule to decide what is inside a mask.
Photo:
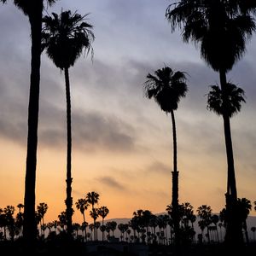
[(163, 67), (154, 72), (148, 73), (145, 82), (146, 96), (154, 97), (155, 102), (166, 113), (177, 109), (181, 97), (186, 95), (188, 90), (185, 73), (172, 71), (171, 67)]

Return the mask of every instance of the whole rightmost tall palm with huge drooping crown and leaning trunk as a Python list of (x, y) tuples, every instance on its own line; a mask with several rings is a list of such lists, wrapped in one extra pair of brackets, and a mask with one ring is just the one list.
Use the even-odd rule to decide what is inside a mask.
[(228, 165), (226, 207), (227, 230), (225, 241), (239, 245), (242, 243), (241, 224), (236, 219), (236, 175), (228, 113), (228, 83), (226, 74), (239, 61), (246, 50), (246, 43), (256, 29), (253, 12), (255, 1), (240, 0), (181, 0), (166, 9), (166, 19), (170, 21), (172, 32), (182, 29), (183, 41), (192, 41), (200, 46), (201, 57), (207, 65), (219, 73), (223, 91), (224, 137)]

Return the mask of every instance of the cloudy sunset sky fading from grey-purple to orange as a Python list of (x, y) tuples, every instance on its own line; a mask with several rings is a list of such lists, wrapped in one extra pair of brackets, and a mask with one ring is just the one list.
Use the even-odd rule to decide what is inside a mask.
[[(94, 56), (70, 68), (73, 132), (73, 204), (90, 191), (100, 195), (108, 218), (131, 218), (137, 209), (165, 212), (172, 201), (172, 122), (143, 84), (169, 66), (187, 73), (188, 94), (175, 112), (179, 202), (196, 209), (224, 207), (227, 165), (223, 120), (207, 110), (218, 73), (184, 44), (165, 18), (168, 0), (60, 0), (47, 9), (70, 9), (93, 25)], [(46, 15), (46, 12), (44, 13)], [(12, 1), (0, 7), (0, 207), (23, 202), (26, 172), (30, 26)], [(256, 201), (256, 37), (228, 73), (246, 93), (231, 119), (238, 197)], [(45, 221), (57, 219), (66, 198), (66, 98), (64, 73), (43, 53), (36, 200)], [(73, 206), (75, 208), (75, 206)], [(251, 215), (256, 215), (251, 212)], [(88, 212), (86, 218), (91, 221)], [(73, 221), (82, 222), (76, 210)]]

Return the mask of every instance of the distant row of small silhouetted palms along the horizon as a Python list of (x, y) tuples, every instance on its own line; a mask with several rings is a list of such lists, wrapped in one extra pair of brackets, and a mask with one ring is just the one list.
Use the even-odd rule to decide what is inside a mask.
[[(256, 227), (247, 229), (247, 217), (252, 210), (256, 211), (256, 201), (246, 198), (238, 199), (241, 218), (243, 241), (245, 245), (255, 244)], [(84, 198), (76, 201), (76, 209), (83, 216), (82, 223), (73, 223), (72, 241), (79, 245), (90, 245), (92, 242), (102, 244), (143, 244), (148, 247), (169, 247), (175, 245), (175, 226), (172, 218), (172, 204), (166, 206), (166, 213), (153, 214), (149, 210), (139, 209), (133, 212), (126, 223), (105, 220), (108, 217), (108, 207), (98, 207), (99, 194), (95, 191), (87, 193)], [(5, 242), (19, 243), (23, 241), (24, 205), (0, 208), (0, 245)], [(49, 223), (44, 222), (48, 205), (39, 203), (36, 211), (37, 238), (42, 244), (58, 243), (69, 240), (67, 230), (67, 213), (60, 212), (58, 218)], [(85, 220), (85, 213), (89, 212), (89, 220)], [(88, 215), (88, 214), (86, 214)], [(197, 227), (196, 227), (197, 226)], [(212, 208), (202, 205), (196, 210), (189, 202), (178, 205), (178, 228), (180, 243), (183, 248), (199, 246), (217, 246), (224, 241), (227, 228), (225, 208), (218, 214)], [(196, 230), (200, 232), (196, 233)], [(253, 239), (249, 239), (251, 232)], [(69, 237), (69, 238), (68, 238)], [(251, 236), (252, 237), (252, 236)]]

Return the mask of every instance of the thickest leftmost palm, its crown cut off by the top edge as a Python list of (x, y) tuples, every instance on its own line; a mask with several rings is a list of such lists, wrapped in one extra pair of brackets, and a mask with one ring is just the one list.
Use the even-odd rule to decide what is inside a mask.
[[(6, 3), (7, 0), (0, 0)], [(28, 103), (26, 177), (24, 197), (24, 229), (23, 234), (28, 244), (37, 239), (36, 207), (36, 168), (38, 148), (38, 111), (39, 84), (41, 64), (41, 32), (44, 2), (52, 5), (56, 0), (13, 0), (15, 6), (29, 19), (31, 27), (31, 74)]]

